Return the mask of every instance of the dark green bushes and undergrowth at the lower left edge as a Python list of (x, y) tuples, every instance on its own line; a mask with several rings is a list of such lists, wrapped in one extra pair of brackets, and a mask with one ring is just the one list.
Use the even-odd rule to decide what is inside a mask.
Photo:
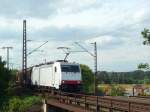
[(15, 70), (8, 70), (0, 58), (0, 112), (26, 112), (29, 107), (40, 103), (41, 98), (31, 94), (16, 94)]

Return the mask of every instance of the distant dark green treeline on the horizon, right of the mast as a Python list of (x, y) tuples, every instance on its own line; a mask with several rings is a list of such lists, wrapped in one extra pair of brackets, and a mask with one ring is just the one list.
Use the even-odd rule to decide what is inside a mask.
[(106, 72), (97, 74), (100, 84), (150, 84), (150, 71)]

